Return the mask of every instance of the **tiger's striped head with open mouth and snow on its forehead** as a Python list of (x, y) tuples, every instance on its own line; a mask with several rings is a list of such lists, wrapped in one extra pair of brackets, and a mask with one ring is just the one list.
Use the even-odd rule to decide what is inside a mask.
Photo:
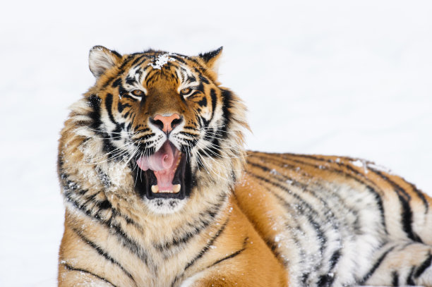
[[(93, 47), (96, 83), (83, 99), (87, 121), (78, 126), (99, 145), (83, 160), (108, 178), (109, 166), (123, 166), (155, 213), (176, 212), (205, 188), (232, 188), (244, 165), (247, 123), (244, 104), (217, 82), (221, 52), (121, 56)], [(82, 103), (79, 118), (78, 109)]]

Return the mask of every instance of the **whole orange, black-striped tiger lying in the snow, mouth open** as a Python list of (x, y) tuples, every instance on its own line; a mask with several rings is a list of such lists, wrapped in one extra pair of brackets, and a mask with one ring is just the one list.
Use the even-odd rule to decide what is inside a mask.
[(90, 50), (58, 286), (432, 286), (432, 199), (372, 161), (248, 151), (222, 47)]

